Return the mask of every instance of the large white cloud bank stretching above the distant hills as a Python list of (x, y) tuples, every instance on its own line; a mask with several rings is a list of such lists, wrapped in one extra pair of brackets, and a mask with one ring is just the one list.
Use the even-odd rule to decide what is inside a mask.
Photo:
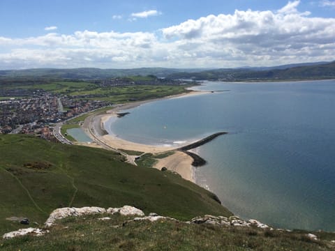
[(280, 10), (235, 10), (159, 32), (76, 31), (0, 37), (0, 69), (37, 67), (237, 67), (332, 61), (335, 19)]

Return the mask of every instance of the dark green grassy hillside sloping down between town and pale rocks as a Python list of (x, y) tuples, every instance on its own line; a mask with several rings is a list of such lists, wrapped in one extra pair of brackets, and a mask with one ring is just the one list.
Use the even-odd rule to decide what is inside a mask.
[[(128, 204), (184, 220), (206, 213), (230, 215), (198, 185), (169, 172), (128, 165), (103, 149), (1, 135), (0, 155), (0, 234), (23, 227), (8, 217), (41, 224), (63, 206)], [(28, 163), (47, 168), (24, 167)]]

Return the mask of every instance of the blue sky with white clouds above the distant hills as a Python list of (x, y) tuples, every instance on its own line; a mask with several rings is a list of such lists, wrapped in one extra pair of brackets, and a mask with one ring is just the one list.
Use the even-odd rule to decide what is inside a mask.
[(334, 61), (335, 0), (0, 0), (0, 70)]

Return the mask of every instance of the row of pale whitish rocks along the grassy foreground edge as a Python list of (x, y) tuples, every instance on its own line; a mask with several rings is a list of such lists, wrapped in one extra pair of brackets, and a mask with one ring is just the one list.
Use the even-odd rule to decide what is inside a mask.
[[(84, 216), (84, 215), (95, 215), (95, 214), (110, 214), (110, 215), (124, 215), (124, 216), (137, 216), (134, 217), (132, 220), (127, 220), (123, 223), (126, 225), (128, 222), (137, 222), (142, 220), (149, 220), (154, 222), (156, 220), (173, 220), (175, 222), (181, 222), (174, 218), (165, 217), (158, 215), (156, 213), (149, 213), (149, 215), (145, 216), (142, 210), (135, 208), (133, 206), (123, 206), (121, 208), (101, 208), (97, 206), (85, 206), (82, 208), (57, 208), (50, 214), (49, 218), (45, 222), (45, 227), (43, 229), (29, 227), (26, 229), (19, 229), (17, 231), (11, 231), (7, 234), (3, 235), (4, 239), (14, 238), (17, 236), (25, 236), (27, 234), (31, 236), (43, 236), (50, 232), (49, 228), (55, 224), (57, 220), (61, 220), (63, 218), (67, 218), (70, 216)], [(98, 218), (97, 220), (111, 220), (110, 217)], [(185, 224), (210, 224), (210, 225), (222, 225), (222, 226), (233, 226), (233, 227), (258, 227), (261, 229), (269, 229), (269, 231), (279, 230), (279, 231), (290, 231), (290, 230), (283, 230), (283, 229), (274, 229), (269, 227), (268, 225), (259, 222), (258, 220), (241, 220), (237, 216), (230, 216), (229, 218), (224, 216), (214, 216), (214, 215), (204, 215), (201, 217), (195, 217), (190, 221), (181, 222)], [(118, 226), (117, 226), (118, 227)], [(314, 234), (307, 234), (308, 238), (313, 240), (317, 239), (317, 236)]]

